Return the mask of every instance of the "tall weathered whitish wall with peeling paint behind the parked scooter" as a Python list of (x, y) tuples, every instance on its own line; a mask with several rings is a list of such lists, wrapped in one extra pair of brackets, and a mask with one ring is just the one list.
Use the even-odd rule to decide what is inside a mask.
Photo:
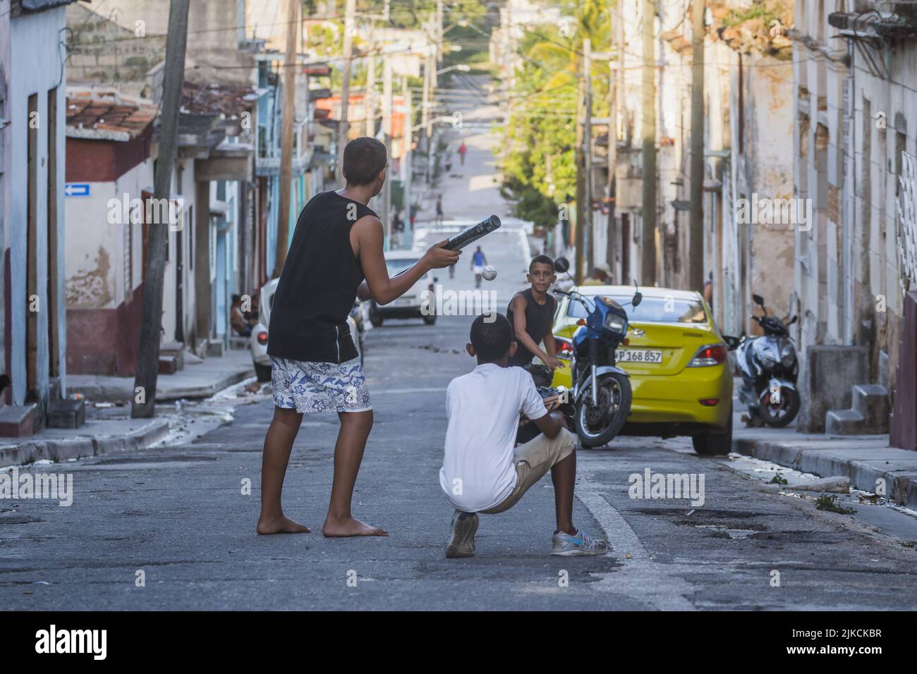
[[(797, 6), (793, 43), (795, 191), (818, 214), (795, 242), (797, 338), (803, 354), (812, 344), (867, 344), (873, 380), (893, 384), (908, 286), (899, 260), (900, 153), (917, 153), (917, 44), (883, 51), (878, 63), (888, 70), (875, 72), (828, 24), (832, 12), (853, 8), (826, 0), (820, 14), (814, 5)], [(887, 368), (879, 367), (883, 353)]]

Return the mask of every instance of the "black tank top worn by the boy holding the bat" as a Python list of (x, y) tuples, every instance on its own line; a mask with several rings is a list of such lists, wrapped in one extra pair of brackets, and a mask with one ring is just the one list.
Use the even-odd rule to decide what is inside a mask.
[(326, 363), (357, 358), (347, 317), (364, 276), (350, 227), (365, 215), (376, 214), (333, 191), (305, 204), (271, 304), (269, 355)]

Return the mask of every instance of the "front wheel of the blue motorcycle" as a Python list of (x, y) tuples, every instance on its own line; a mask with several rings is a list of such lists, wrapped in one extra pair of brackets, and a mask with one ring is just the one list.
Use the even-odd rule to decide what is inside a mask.
[(587, 378), (573, 421), (583, 447), (602, 447), (621, 432), (630, 414), (630, 380), (617, 372), (599, 375), (596, 405), (592, 404), (591, 386), (592, 381)]

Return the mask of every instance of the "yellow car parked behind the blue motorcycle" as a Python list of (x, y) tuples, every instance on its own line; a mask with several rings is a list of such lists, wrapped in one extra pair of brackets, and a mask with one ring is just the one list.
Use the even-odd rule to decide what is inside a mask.
[[(615, 353), (633, 391), (622, 435), (691, 436), (698, 454), (730, 452), (733, 376), (728, 347), (701, 294), (641, 288), (643, 301), (634, 307), (629, 304), (634, 295), (630, 286), (582, 285), (574, 290), (612, 297), (627, 313), (627, 335)], [(568, 297), (558, 295), (557, 300), (552, 331), (558, 359), (565, 364), (554, 370), (552, 383), (572, 388), (572, 340), (586, 310)]]

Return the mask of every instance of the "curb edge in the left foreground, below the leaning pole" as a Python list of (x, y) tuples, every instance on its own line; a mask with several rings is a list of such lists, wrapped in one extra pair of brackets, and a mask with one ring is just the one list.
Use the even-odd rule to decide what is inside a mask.
[(69, 437), (60, 440), (29, 440), (17, 447), (0, 448), (0, 466), (22, 466), (47, 459), (59, 463), (99, 454), (146, 449), (169, 435), (169, 422), (154, 419), (125, 436)]

